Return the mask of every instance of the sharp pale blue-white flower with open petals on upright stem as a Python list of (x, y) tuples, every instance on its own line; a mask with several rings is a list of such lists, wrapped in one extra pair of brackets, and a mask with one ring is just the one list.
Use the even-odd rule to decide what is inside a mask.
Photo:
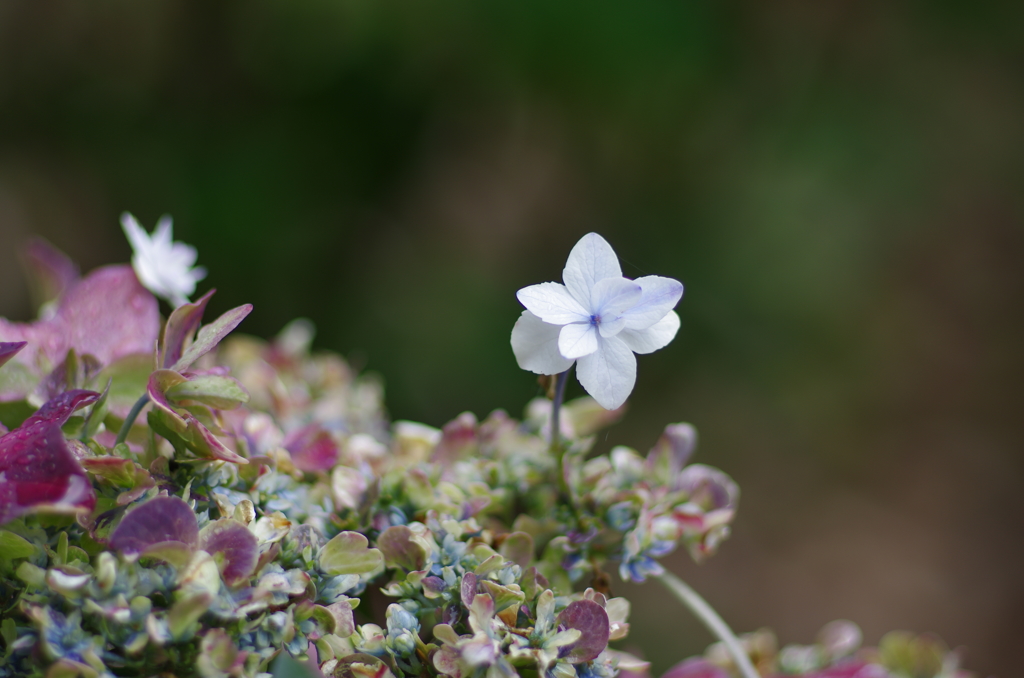
[(679, 330), (672, 310), (679, 281), (623, 278), (607, 241), (584, 236), (562, 270), (565, 285), (541, 283), (516, 293), (526, 307), (512, 328), (512, 350), (523, 370), (559, 374), (573, 363), (580, 383), (601, 407), (623, 405), (636, 383), (633, 353), (667, 345)]

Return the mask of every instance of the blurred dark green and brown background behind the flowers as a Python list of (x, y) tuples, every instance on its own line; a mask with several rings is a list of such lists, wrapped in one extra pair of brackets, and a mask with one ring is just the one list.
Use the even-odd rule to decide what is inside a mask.
[[(514, 293), (605, 236), (686, 285), (602, 446), (668, 422), (743, 491), (671, 566), (738, 630), (1024, 633), (1024, 4), (0, 3), (0, 314), (41, 235), (170, 213), (243, 330), (303, 315), (434, 425), (538, 393)], [(578, 385), (574, 393), (580, 393)], [(632, 646), (711, 638), (656, 583)], [(656, 673), (655, 673), (656, 675)]]

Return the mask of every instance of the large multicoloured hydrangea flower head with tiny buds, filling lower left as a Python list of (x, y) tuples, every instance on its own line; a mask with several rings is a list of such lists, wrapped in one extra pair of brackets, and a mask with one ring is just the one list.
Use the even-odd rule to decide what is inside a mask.
[(251, 307), (204, 325), (212, 292), (162, 321), (131, 267), (31, 252), (44, 313), (0, 321), (0, 676), (610, 678), (644, 663), (608, 647), (609, 569), (728, 534), (686, 424), (594, 457), (621, 411), (589, 397), (562, 456), (543, 398), (389, 423), (307, 322), (228, 337)]

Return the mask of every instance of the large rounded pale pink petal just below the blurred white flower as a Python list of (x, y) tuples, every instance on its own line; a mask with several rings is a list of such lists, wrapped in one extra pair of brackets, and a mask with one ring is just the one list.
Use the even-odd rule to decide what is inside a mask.
[[(131, 266), (97, 268), (72, 286), (60, 298), (54, 322), (65, 350), (89, 353), (104, 365), (131, 353), (152, 353), (160, 336), (157, 299)], [(51, 355), (54, 362), (62, 357)]]

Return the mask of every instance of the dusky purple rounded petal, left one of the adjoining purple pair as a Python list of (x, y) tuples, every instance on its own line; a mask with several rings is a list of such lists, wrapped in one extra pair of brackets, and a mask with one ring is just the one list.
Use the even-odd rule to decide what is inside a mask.
[(128, 513), (111, 533), (111, 548), (122, 553), (141, 553), (161, 542), (195, 546), (199, 540), (196, 513), (177, 497), (157, 497)]

